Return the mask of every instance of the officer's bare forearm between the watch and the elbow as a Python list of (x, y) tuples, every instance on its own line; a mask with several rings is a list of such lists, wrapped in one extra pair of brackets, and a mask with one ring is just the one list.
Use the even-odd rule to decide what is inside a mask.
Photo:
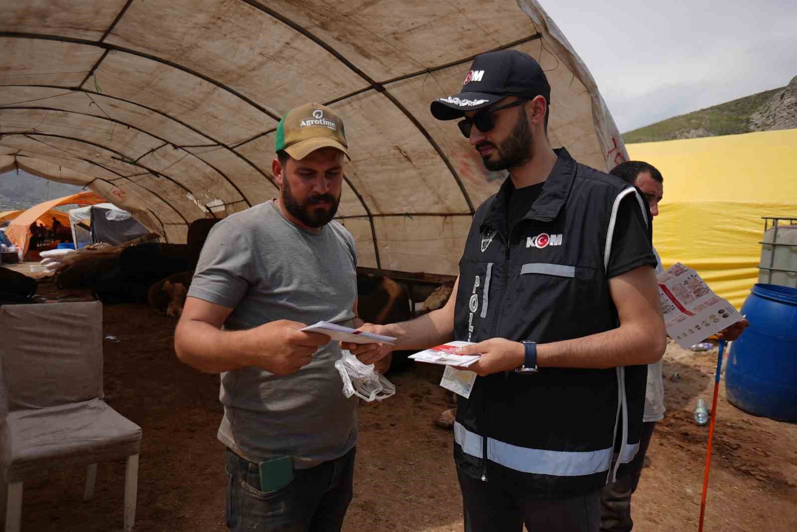
[(653, 364), (667, 346), (664, 331), (639, 324), (537, 346), (537, 366), (559, 368), (611, 368)]

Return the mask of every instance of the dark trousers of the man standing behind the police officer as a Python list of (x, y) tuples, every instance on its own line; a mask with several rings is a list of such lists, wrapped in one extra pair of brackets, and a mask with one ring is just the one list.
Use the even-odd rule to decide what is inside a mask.
[(654, 428), (656, 428), (655, 421), (642, 424), (639, 450), (629, 464), (629, 474), (601, 490), (601, 532), (630, 532), (634, 528), (634, 520), (631, 519), (631, 494), (637, 491), (639, 476), (642, 475), (645, 454)]

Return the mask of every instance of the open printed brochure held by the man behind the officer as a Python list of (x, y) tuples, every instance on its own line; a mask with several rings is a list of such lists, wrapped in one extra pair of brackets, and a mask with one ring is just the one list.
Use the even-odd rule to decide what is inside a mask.
[(684, 348), (743, 318), (727, 299), (715, 294), (697, 272), (680, 262), (658, 274), (658, 296), (667, 334)]

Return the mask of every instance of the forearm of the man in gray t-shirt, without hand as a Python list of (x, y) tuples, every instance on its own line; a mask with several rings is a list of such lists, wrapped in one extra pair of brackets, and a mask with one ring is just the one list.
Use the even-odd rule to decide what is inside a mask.
[(175, 331), (180, 362), (209, 374), (251, 366), (246, 356), (248, 331), (222, 331), (199, 320), (186, 319)]

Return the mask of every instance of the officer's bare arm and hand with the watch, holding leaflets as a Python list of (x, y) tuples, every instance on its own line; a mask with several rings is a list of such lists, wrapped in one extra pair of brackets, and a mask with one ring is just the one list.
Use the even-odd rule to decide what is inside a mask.
[[(620, 327), (582, 338), (537, 345), (537, 366), (611, 368), (658, 362), (664, 354), (666, 332), (658, 299), (656, 273), (650, 266), (634, 268), (609, 280)], [(512, 370), (524, 362), (524, 346), (505, 338), (491, 338), (465, 346), (461, 354), (481, 353), (468, 370), (480, 375)]]

